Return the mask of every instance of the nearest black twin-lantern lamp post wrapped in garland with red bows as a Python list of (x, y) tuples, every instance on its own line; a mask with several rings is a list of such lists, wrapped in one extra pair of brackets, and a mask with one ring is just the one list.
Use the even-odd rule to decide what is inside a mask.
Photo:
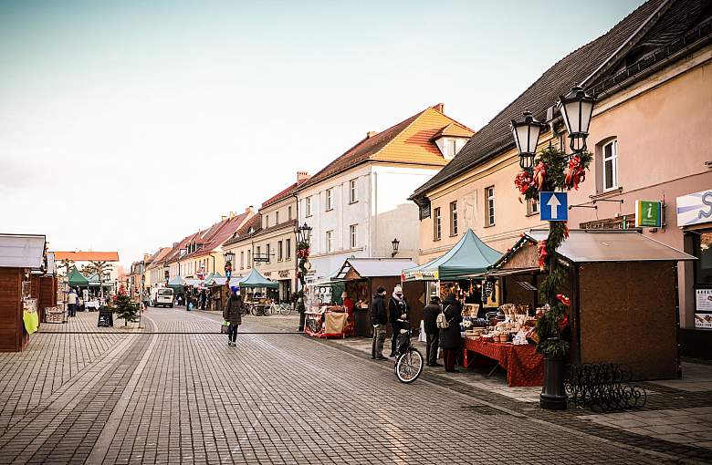
[[(534, 119), (529, 111), (525, 111), (520, 119), (512, 119), (512, 136), (521, 168), (514, 183), (527, 200), (537, 200), (542, 192), (578, 189), (579, 183), (584, 181), (585, 171), (592, 160), (591, 153), (586, 151), (586, 138), (594, 103), (595, 98), (579, 86), (571, 88), (571, 92), (561, 96), (557, 102), (569, 133), (570, 155), (551, 146), (537, 154), (539, 135), (546, 123)], [(556, 203), (552, 205), (551, 208), (557, 208)], [(537, 321), (537, 351), (545, 357), (544, 386), (539, 395), (539, 405), (549, 410), (563, 410), (566, 409), (563, 359), (569, 353), (570, 344), (561, 338), (561, 331), (568, 325), (570, 299), (557, 294), (566, 279), (566, 271), (556, 259), (556, 250), (569, 237), (569, 228), (566, 220), (557, 221), (560, 218), (557, 214), (552, 214), (551, 218), (549, 236), (546, 241), (537, 244), (539, 269), (548, 272), (539, 285), (539, 295), (549, 304), (549, 310)]]

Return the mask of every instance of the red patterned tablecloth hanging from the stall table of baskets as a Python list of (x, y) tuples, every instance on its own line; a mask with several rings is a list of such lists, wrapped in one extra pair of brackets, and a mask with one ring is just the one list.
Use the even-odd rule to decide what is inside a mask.
[(476, 352), (497, 360), (507, 370), (508, 386), (541, 386), (544, 382), (544, 357), (533, 345), (515, 346), (498, 342), (484, 342), (465, 338), (465, 366), (469, 366), (467, 352)]

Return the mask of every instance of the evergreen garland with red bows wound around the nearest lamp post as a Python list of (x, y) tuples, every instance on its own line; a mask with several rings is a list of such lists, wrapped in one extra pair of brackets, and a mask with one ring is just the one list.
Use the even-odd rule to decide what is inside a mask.
[[(579, 184), (585, 180), (591, 160), (592, 154), (588, 151), (570, 157), (550, 146), (539, 153), (531, 171), (518, 173), (514, 184), (526, 200), (538, 200), (540, 192), (578, 190)], [(519, 202), (522, 202), (521, 196)], [(548, 272), (539, 285), (539, 297), (549, 304), (549, 310), (537, 321), (537, 351), (545, 356), (563, 357), (569, 353), (570, 344), (560, 336), (569, 324), (571, 302), (567, 296), (557, 294), (566, 280), (566, 270), (556, 258), (556, 250), (569, 237), (569, 227), (566, 222), (549, 224), (549, 236), (537, 244), (539, 268), (542, 272)]]

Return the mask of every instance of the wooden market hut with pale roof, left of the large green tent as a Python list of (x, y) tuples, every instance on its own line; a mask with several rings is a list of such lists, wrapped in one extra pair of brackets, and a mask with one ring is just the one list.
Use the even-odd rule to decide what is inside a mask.
[[(401, 284), (401, 270), (414, 266), (410, 258), (348, 258), (341, 265), (334, 279), (345, 284), (346, 294), (357, 304), (354, 309), (357, 336), (373, 336), (369, 309), (376, 289), (382, 285), (390, 295), (395, 285)], [(422, 289), (416, 285), (403, 285), (403, 295), (411, 305), (411, 321), (419, 325), (424, 308)]]

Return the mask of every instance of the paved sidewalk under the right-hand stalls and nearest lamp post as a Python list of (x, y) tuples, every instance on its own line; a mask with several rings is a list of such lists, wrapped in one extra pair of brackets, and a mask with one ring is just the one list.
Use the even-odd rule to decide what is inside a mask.
[[(378, 363), (370, 360), (371, 342), (370, 338), (352, 337), (330, 339), (325, 343)], [(390, 341), (386, 343), (390, 348)], [(425, 353), (424, 343), (414, 342), (414, 346)], [(682, 379), (638, 383), (647, 391), (644, 408), (604, 414), (571, 404), (563, 412), (542, 410), (539, 408), (541, 387), (508, 387), (501, 369), (488, 377), (487, 368), (458, 368), (461, 373), (445, 373), (442, 367), (425, 367), (421, 379), (479, 398), (493, 408), (506, 408), (631, 447), (712, 462), (712, 366), (683, 362)]]

